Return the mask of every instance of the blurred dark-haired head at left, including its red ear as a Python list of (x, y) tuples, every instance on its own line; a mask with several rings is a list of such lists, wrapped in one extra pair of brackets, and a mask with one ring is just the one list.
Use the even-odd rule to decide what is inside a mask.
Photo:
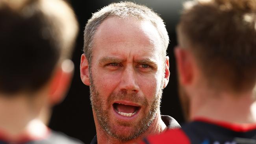
[(0, 96), (35, 97), (47, 87), (50, 100), (58, 101), (72, 75), (68, 59), (78, 31), (70, 6), (62, 0), (0, 0), (0, 21)]

